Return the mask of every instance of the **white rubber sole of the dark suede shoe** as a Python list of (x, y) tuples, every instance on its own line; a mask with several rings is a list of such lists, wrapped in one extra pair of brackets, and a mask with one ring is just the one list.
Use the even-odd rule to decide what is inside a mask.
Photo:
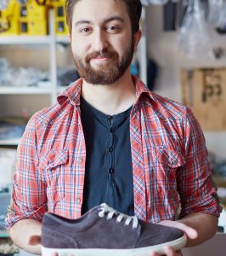
[(150, 256), (151, 252), (164, 254), (164, 247), (172, 247), (176, 251), (185, 246), (187, 237), (184, 235), (177, 240), (168, 241), (152, 247), (133, 249), (54, 249), (42, 247), (42, 256), (50, 256), (58, 253), (59, 256)]

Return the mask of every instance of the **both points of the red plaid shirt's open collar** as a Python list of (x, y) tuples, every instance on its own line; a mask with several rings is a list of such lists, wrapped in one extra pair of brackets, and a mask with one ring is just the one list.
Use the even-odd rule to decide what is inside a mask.
[[(80, 96), (82, 92), (82, 81), (83, 79), (77, 79), (75, 82), (69, 85), (58, 97), (57, 100), (60, 105), (66, 101), (70, 101), (72, 105), (80, 105)], [(136, 97), (137, 101), (141, 100), (142, 95), (149, 96), (150, 99), (155, 101), (155, 94), (152, 93), (147, 86), (138, 77), (133, 76), (133, 82), (136, 86)]]

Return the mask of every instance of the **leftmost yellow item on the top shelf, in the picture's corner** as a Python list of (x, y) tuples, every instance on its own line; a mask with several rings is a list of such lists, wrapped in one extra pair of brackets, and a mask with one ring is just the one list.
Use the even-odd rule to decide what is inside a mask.
[(0, 11), (0, 36), (18, 35), (20, 4), (17, 0), (10, 0), (8, 8)]

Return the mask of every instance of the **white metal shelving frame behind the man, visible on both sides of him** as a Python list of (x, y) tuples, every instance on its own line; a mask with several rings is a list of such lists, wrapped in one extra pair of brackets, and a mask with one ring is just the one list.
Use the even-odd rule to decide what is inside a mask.
[[(146, 9), (143, 8), (142, 12), (142, 38), (138, 45), (138, 62), (140, 67), (140, 78), (147, 82), (147, 47), (146, 47), (146, 27), (145, 27)], [(49, 96), (49, 105), (56, 103), (57, 95), (65, 90), (65, 86), (58, 86), (57, 84), (57, 44), (69, 45), (68, 36), (55, 35), (55, 21), (54, 10), (49, 10), (48, 14), (48, 35), (47, 36), (1, 36), (0, 48), (14, 46), (23, 48), (29, 47), (47, 47), (48, 48), (48, 68), (50, 73), (50, 83), (45, 86), (1, 86), (0, 84), (0, 96), (38, 96), (38, 99), (42, 100), (42, 96)], [(0, 55), (1, 57), (1, 55)], [(23, 63), (21, 61), (21, 63)], [(10, 100), (11, 101), (11, 100)], [(14, 102), (12, 103), (14, 104)], [(17, 108), (17, 106), (14, 106)], [(0, 146), (12, 146), (15, 147), (20, 143), (20, 139), (0, 140)]]

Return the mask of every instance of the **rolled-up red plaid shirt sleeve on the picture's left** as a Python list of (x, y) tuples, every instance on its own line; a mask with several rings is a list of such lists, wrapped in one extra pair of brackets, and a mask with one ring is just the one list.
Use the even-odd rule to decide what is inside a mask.
[(5, 220), (8, 229), (24, 218), (41, 221), (47, 211), (46, 185), (38, 172), (36, 117), (37, 113), (26, 125), (17, 149), (11, 202)]

